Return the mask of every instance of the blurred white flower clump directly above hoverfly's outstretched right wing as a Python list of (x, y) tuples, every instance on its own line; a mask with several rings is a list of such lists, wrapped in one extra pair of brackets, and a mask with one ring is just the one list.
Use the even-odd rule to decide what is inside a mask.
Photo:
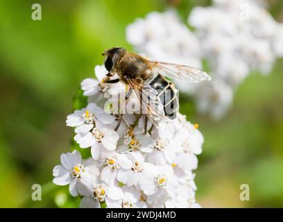
[(153, 60), (200, 67), (200, 44), (175, 11), (151, 12), (126, 29), (130, 44)]

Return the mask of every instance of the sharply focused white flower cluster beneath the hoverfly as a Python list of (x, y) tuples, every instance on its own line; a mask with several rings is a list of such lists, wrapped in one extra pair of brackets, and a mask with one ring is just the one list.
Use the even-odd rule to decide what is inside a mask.
[(95, 72), (98, 80), (81, 83), (87, 107), (66, 121), (91, 157), (82, 160), (76, 150), (63, 153), (53, 182), (69, 185), (72, 196), (82, 196), (80, 207), (199, 207), (192, 172), (204, 142), (198, 124), (178, 113), (157, 127), (145, 114), (114, 112), (128, 103), (128, 87), (104, 83), (104, 66), (96, 66)]

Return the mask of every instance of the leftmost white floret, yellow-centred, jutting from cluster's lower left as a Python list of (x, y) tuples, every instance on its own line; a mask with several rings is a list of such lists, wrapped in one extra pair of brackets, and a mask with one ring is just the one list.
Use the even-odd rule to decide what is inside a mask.
[[(78, 151), (72, 153), (63, 153), (60, 157), (61, 164), (53, 169), (53, 182), (55, 185), (68, 185), (71, 196), (78, 196), (76, 189), (77, 182), (80, 178), (86, 175), (86, 167), (82, 164), (82, 157)], [(97, 167), (92, 165), (92, 173), (98, 174)]]

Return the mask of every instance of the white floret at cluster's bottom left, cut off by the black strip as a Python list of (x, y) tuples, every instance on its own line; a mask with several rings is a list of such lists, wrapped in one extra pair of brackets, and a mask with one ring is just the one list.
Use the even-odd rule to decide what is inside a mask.
[(100, 208), (101, 202), (119, 200), (123, 193), (120, 187), (109, 187), (103, 184), (97, 177), (85, 176), (78, 182), (78, 193), (83, 196), (80, 207)]

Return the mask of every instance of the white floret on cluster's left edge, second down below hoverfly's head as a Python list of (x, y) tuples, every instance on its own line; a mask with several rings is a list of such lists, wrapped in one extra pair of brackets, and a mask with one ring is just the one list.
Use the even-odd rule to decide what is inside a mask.
[(82, 110), (75, 110), (73, 114), (67, 116), (67, 126), (76, 127), (76, 133), (87, 133), (96, 125), (96, 121), (104, 124), (113, 123), (115, 118), (106, 114), (104, 110), (95, 103), (89, 103)]

